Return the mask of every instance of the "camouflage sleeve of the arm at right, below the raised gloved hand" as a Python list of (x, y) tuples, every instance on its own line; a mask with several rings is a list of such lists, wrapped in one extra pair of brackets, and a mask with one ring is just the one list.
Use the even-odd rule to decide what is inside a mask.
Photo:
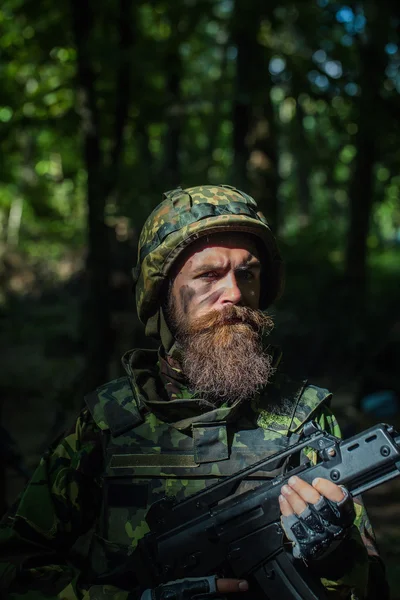
[[(317, 418), (322, 429), (342, 437), (339, 424), (329, 408), (323, 407)], [(316, 462), (315, 451), (307, 452)], [(362, 498), (354, 498), (356, 518), (350, 536), (336, 551), (318, 561), (315, 570), (329, 598), (351, 600), (389, 599), (385, 567), (379, 556), (375, 535)]]

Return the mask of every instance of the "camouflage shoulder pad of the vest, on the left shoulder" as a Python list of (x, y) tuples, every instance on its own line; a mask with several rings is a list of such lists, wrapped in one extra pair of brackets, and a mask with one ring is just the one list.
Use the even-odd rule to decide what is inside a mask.
[(129, 377), (119, 377), (85, 396), (86, 405), (102, 430), (118, 437), (143, 422), (140, 400)]

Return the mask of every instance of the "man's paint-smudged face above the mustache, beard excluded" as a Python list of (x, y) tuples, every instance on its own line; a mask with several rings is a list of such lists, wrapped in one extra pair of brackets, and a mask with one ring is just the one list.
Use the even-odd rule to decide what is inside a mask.
[(171, 293), (174, 305), (190, 321), (240, 305), (258, 309), (261, 264), (256, 244), (242, 233), (200, 239), (178, 261)]

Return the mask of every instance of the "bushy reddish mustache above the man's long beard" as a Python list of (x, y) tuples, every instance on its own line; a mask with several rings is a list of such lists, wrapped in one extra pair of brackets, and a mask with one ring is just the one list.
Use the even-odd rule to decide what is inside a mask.
[(247, 306), (231, 305), (222, 310), (213, 310), (198, 317), (194, 322), (186, 324), (184, 335), (206, 332), (209, 329), (218, 329), (233, 325), (250, 326), (255, 332), (262, 330), (271, 331), (274, 323), (271, 317), (261, 310), (249, 308)]

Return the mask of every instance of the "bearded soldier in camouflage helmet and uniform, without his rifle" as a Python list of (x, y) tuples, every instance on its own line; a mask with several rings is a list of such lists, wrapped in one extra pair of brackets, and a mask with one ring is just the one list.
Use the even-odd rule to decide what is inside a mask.
[[(12, 600), (257, 597), (251, 578), (218, 573), (141, 588), (129, 565), (149, 507), (287, 448), (307, 421), (340, 434), (330, 394), (291, 381), (268, 343), (263, 311), (281, 292), (282, 263), (251, 197), (229, 186), (165, 194), (143, 227), (134, 281), (138, 316), (160, 348), (126, 353), (127, 376), (86, 397), (6, 516), (1, 589)], [(304, 458), (317, 459), (312, 450)], [(237, 493), (289, 466), (257, 473)], [(359, 501), (333, 482), (292, 477), (279, 504), (288, 548), (321, 594), (386, 597)]]

